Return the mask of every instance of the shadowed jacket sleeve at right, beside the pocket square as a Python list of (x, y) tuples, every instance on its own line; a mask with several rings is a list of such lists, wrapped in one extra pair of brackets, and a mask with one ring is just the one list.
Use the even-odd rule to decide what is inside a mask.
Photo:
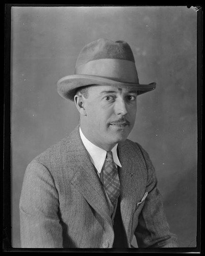
[[(140, 146), (140, 145), (139, 145)], [(148, 195), (139, 215), (135, 236), (139, 247), (178, 247), (175, 234), (169, 230), (169, 225), (163, 209), (163, 201), (157, 188), (155, 168), (151, 160), (140, 146), (147, 168)]]

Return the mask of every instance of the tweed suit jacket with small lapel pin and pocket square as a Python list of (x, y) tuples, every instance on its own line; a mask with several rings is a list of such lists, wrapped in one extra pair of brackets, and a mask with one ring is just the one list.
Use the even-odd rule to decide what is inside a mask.
[[(118, 154), (128, 246), (135, 234), (138, 247), (177, 247), (147, 153), (127, 139), (118, 144)], [(79, 126), (28, 165), (19, 208), (21, 247), (112, 248), (108, 205)]]

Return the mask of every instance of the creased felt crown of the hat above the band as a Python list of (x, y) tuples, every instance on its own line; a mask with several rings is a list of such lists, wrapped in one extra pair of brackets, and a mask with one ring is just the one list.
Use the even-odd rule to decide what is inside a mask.
[(127, 42), (112, 41), (104, 38), (97, 39), (86, 45), (79, 53), (76, 66), (85, 65), (87, 62), (98, 59), (123, 59), (135, 63), (131, 47)]

